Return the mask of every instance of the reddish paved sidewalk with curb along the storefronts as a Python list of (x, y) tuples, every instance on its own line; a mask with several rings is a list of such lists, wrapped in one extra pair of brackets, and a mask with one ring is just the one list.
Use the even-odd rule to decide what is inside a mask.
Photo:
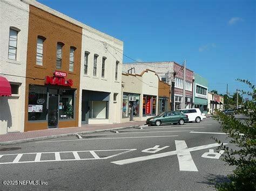
[(15, 143), (29, 142), (34, 140), (44, 140), (52, 139), (58, 137), (73, 136), (77, 133), (93, 133), (102, 132), (109, 130), (118, 130), (125, 128), (132, 128), (140, 125), (144, 125), (145, 121), (139, 122), (127, 122), (127, 123), (117, 123), (117, 124), (90, 124), (82, 125), (81, 127), (74, 128), (56, 128), (56, 129), (46, 129), (28, 132), (17, 132), (17, 133), (7, 133), (0, 135), (0, 146), (9, 145)]

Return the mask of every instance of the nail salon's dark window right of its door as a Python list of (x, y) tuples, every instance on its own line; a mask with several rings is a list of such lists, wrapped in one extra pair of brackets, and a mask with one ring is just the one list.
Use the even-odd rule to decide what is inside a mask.
[(59, 119), (74, 118), (74, 93), (75, 90), (59, 90)]

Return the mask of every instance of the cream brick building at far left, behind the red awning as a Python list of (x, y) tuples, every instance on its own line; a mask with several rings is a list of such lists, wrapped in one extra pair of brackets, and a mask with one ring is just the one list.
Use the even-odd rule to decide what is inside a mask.
[(2, 0), (0, 14), (0, 76), (12, 90), (11, 97), (0, 97), (0, 134), (23, 132), (29, 5)]

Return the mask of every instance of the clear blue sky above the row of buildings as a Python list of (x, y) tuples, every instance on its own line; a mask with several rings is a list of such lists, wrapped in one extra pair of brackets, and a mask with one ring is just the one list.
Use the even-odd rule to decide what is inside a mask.
[[(124, 42), (140, 62), (186, 60), (220, 94), (256, 81), (254, 0), (37, 0)], [(134, 62), (124, 56), (123, 62)]]

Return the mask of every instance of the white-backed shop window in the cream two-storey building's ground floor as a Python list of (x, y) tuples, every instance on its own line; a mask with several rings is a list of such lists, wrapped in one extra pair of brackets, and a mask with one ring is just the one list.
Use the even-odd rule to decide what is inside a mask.
[(106, 119), (107, 101), (89, 101), (89, 118)]

